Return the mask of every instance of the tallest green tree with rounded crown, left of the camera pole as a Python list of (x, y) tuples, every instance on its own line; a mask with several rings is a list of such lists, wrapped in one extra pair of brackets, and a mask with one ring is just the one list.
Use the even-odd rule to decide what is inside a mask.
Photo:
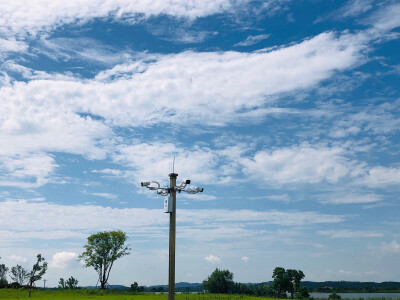
[(127, 236), (125, 232), (104, 231), (92, 234), (87, 239), (79, 259), (83, 260), (85, 267), (93, 267), (99, 275), (101, 289), (105, 289), (111, 268), (114, 262), (130, 254), (129, 247), (125, 246)]

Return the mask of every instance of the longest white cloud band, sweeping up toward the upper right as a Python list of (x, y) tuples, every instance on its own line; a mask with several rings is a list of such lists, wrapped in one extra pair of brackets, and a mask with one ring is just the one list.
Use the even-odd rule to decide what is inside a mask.
[[(323, 33), (271, 52), (160, 56), (140, 67), (135, 63), (133, 69), (142, 72), (128, 79), (125, 73), (108, 83), (47, 80), (15, 88), (23, 103), (35, 95), (52, 110), (88, 112), (115, 125), (226, 124), (241, 113), (248, 117), (249, 111), (262, 108), (266, 96), (312, 87), (336, 70), (353, 66), (362, 48), (355, 36)], [(8, 99), (17, 96), (15, 89), (5, 92)]]

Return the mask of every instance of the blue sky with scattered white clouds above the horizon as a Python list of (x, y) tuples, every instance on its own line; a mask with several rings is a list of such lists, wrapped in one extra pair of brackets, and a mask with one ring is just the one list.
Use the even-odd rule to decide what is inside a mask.
[[(0, 263), (47, 286), (87, 237), (123, 230), (109, 284), (275, 267), (400, 278), (400, 3), (0, 0)], [(39, 282), (39, 286), (43, 283)]]

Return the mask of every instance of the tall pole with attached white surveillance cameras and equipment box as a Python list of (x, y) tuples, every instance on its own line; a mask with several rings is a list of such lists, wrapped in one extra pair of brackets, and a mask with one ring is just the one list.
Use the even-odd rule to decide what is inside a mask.
[[(178, 174), (172, 172), (169, 174), (169, 187), (162, 188), (157, 181), (141, 182), (141, 186), (151, 191), (157, 191), (157, 194), (168, 196), (164, 200), (164, 212), (169, 213), (169, 270), (168, 270), (168, 300), (175, 300), (175, 240), (176, 240), (176, 192), (186, 192), (197, 194), (203, 192), (203, 188), (195, 186), (187, 188), (190, 180), (184, 180), (180, 185), (176, 185)], [(152, 186), (154, 183), (157, 186)]]

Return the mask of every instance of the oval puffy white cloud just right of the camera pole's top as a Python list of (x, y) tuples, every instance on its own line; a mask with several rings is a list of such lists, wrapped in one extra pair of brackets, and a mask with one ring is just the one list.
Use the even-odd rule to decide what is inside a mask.
[(339, 147), (302, 144), (272, 151), (259, 151), (242, 159), (245, 173), (265, 182), (336, 183), (350, 175), (353, 165)]

